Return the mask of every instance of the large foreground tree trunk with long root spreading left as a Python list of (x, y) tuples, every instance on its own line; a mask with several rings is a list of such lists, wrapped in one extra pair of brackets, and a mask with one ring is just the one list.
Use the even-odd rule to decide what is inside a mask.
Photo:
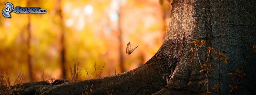
[[(158, 52), (144, 65), (134, 70), (101, 79), (91, 79), (64, 85), (45, 86), (37, 90), (42, 95), (91, 94), (204, 94), (207, 91), (206, 75), (199, 73), (197, 55), (189, 52), (193, 39), (204, 39), (206, 45), (198, 55), (204, 62), (205, 47), (225, 54), (229, 65), (220, 64), (221, 94), (228, 93), (232, 77), (227, 73), (239, 66), (246, 68), (239, 93), (256, 94), (256, 44), (255, 0), (173, 0), (170, 24)], [(209, 89), (218, 83), (217, 61), (208, 74)], [(166, 82), (166, 78), (170, 78)], [(113, 90), (113, 91), (112, 91)], [(214, 93), (217, 94), (217, 93)]]

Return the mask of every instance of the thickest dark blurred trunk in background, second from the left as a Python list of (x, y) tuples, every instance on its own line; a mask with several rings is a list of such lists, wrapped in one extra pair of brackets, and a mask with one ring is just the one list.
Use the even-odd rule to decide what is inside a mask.
[(62, 69), (62, 77), (66, 77), (66, 70), (65, 70), (65, 42), (64, 42), (64, 25), (63, 25), (63, 16), (62, 16), (62, 10), (61, 10), (61, 0), (58, 0), (57, 2), (57, 14), (60, 16), (60, 25), (61, 25), (61, 54), (60, 54), (60, 60), (61, 60), (61, 69)]

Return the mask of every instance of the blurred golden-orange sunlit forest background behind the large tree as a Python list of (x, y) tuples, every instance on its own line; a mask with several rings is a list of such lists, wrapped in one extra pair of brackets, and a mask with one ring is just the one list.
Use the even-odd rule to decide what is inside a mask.
[[(20, 71), (23, 82), (41, 81), (42, 71), (46, 79), (62, 79), (77, 61), (80, 80), (87, 76), (84, 67), (95, 76), (95, 63), (97, 73), (106, 64), (101, 77), (137, 68), (161, 46), (171, 11), (168, 1), (158, 0), (1, 0), (1, 12), (4, 2), (47, 9), (0, 16), (0, 69), (12, 82)], [(130, 55), (129, 41), (138, 46)]]

